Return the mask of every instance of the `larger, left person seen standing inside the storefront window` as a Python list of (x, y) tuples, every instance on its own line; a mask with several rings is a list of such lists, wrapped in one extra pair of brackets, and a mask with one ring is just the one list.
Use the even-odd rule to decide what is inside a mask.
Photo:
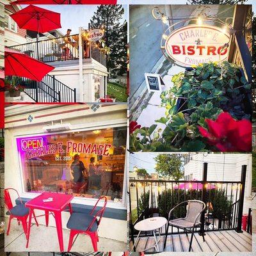
[(70, 169), (74, 176), (74, 193), (84, 193), (87, 186), (87, 172), (83, 162), (80, 161), (78, 154), (74, 156), (74, 161), (71, 164)]

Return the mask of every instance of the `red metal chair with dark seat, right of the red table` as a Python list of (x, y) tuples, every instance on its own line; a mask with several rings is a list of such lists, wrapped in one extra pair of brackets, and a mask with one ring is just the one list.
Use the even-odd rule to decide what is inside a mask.
[[(104, 200), (102, 208), (93, 214), (96, 210), (100, 200)], [(68, 220), (67, 228), (70, 229), (70, 236), (68, 242), (68, 252), (70, 252), (73, 245), (74, 236), (78, 234), (86, 234), (90, 236), (92, 240), (93, 250), (98, 252), (97, 242), (99, 242), (98, 227), (100, 225), (101, 218), (104, 214), (107, 205), (106, 196), (101, 196), (97, 203), (94, 205), (90, 214), (81, 212), (73, 212)]]

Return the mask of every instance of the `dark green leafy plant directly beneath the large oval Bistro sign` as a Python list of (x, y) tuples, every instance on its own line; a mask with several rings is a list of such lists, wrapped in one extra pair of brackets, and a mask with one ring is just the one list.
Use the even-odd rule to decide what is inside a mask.
[(251, 85), (237, 65), (203, 63), (172, 78), (173, 87), (161, 95), (162, 106), (170, 115), (179, 111), (189, 115), (207, 102), (230, 113), (237, 120), (252, 115)]

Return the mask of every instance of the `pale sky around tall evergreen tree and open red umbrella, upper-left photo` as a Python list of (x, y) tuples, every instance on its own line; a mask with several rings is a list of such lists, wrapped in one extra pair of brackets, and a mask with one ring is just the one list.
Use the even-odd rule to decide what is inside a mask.
[[(27, 5), (22, 5), (22, 8), (25, 8)], [(88, 28), (88, 23), (93, 17), (93, 13), (97, 10), (97, 5), (82, 5), (82, 4), (52, 4), (52, 5), (38, 5), (41, 8), (51, 10), (53, 12), (61, 13), (61, 27), (59, 30), (62, 33), (66, 33), (67, 29), (72, 29), (72, 34), (77, 34), (79, 27)], [(127, 20), (128, 7), (124, 5), (124, 20)]]

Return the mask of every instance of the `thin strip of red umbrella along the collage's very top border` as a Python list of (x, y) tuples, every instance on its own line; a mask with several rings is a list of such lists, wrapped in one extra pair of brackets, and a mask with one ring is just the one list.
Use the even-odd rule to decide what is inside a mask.
[(116, 4), (116, 0), (17, 0), (12, 4)]

